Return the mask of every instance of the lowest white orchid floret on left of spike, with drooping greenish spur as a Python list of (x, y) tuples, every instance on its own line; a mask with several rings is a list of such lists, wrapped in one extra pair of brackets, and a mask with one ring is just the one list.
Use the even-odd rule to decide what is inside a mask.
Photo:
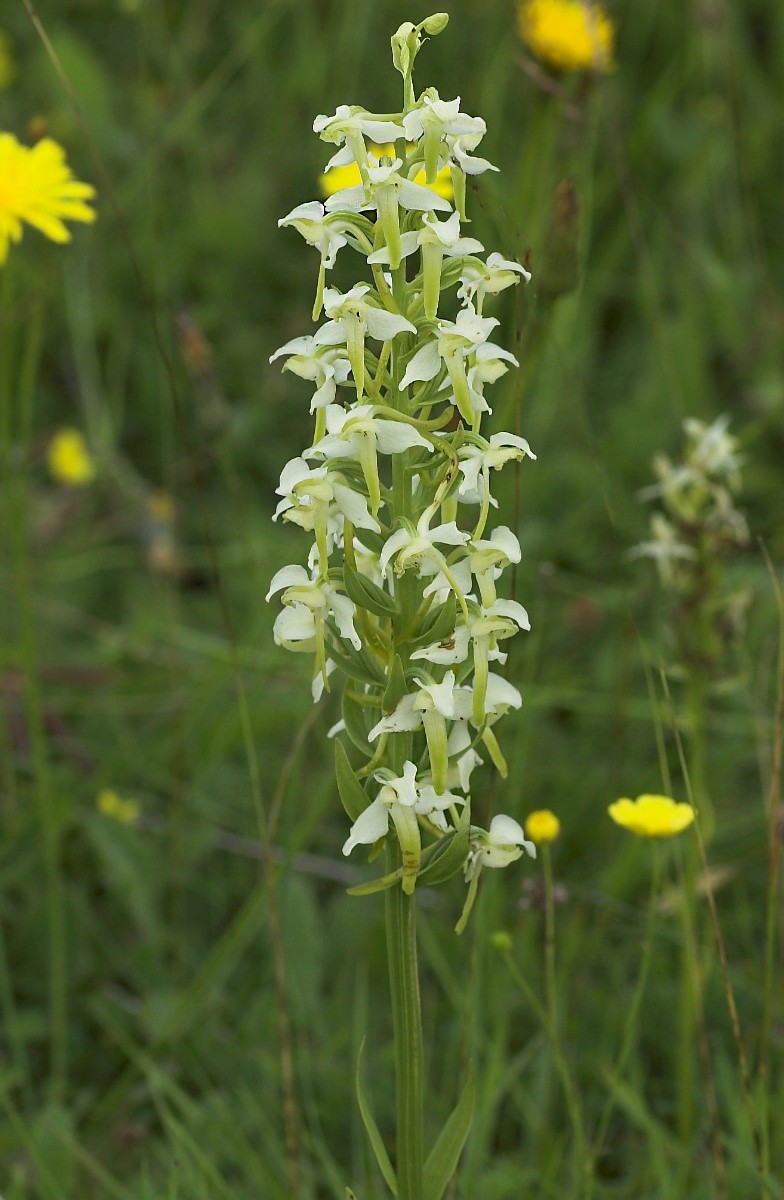
[(354, 846), (372, 846), (389, 833), (389, 822), (395, 826), (402, 856), (402, 889), (408, 895), (417, 884), (421, 860), (421, 840), (417, 816), (430, 817), (441, 803), (431, 788), (421, 796), (417, 786), (417, 767), (407, 761), (402, 775), (390, 770), (378, 770), (373, 775), (382, 785), (376, 799), (354, 821), (343, 845), (343, 854), (351, 854)]

